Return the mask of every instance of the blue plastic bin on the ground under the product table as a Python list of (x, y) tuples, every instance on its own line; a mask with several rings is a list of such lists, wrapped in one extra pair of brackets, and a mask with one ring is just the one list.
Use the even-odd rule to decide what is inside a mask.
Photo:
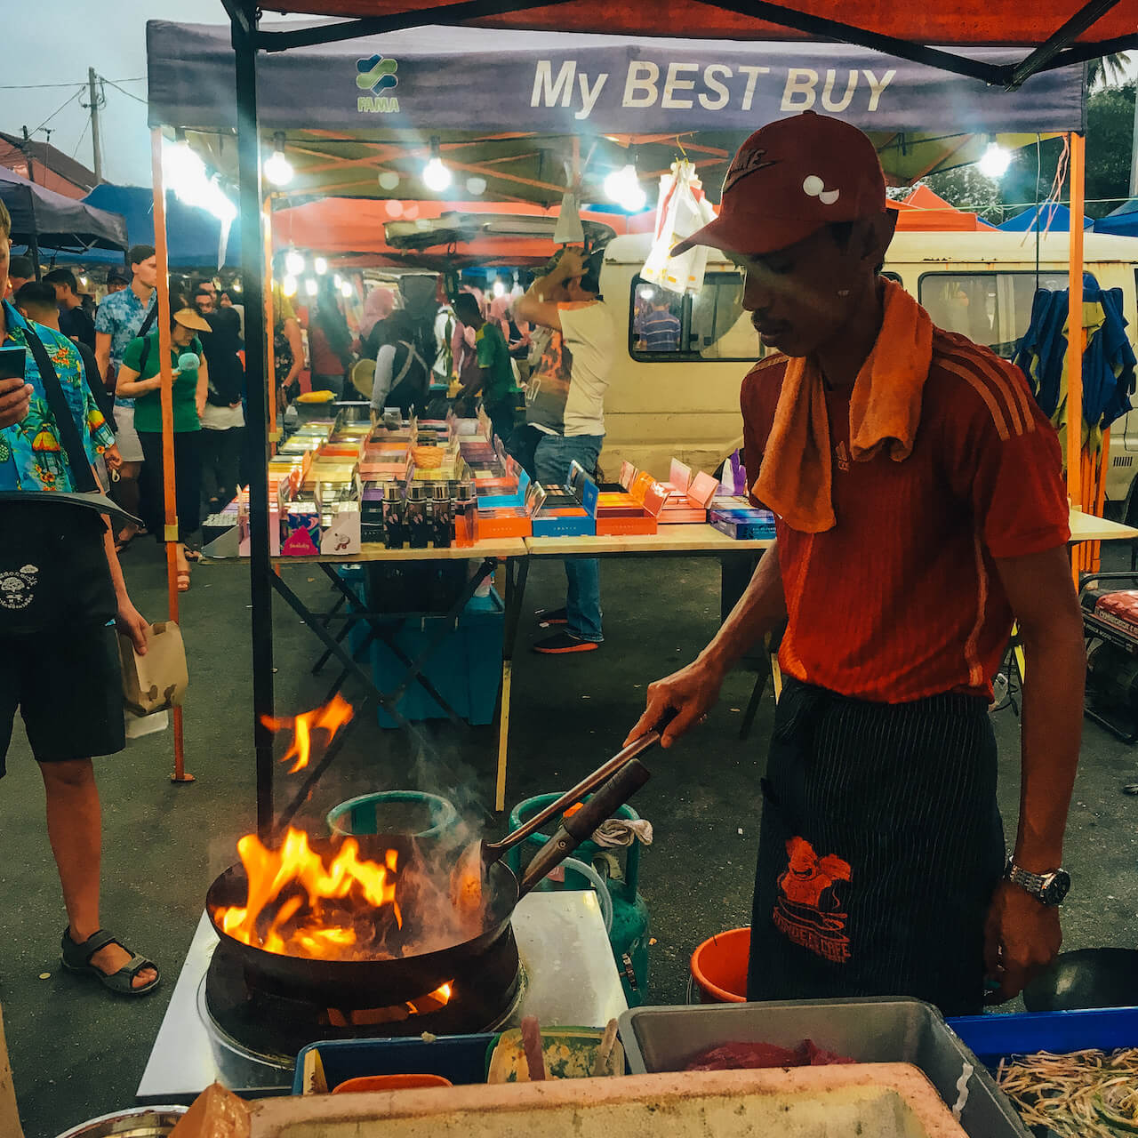
[[(471, 597), (457, 625), (436, 649), (423, 675), (463, 719), (475, 726), (494, 721), (498, 685), (502, 681), (502, 637), (505, 608), (494, 589), (488, 596)], [(410, 660), (422, 652), (443, 617), (421, 617), (402, 621), (395, 642)], [(371, 646), (372, 676), (382, 692), (393, 691), (403, 681), (405, 666), (380, 641)], [(413, 721), (445, 719), (446, 712), (418, 681), (411, 684), (397, 704)], [(379, 708), (380, 727), (396, 727), (396, 721)]]

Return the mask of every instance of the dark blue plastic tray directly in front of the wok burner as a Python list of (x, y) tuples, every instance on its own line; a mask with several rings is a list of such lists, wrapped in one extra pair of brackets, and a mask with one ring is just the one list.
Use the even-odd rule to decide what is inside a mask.
[(304, 1057), (319, 1052), (328, 1089), (372, 1074), (437, 1074), (455, 1086), (486, 1082), (486, 1055), (497, 1036), (439, 1036), (411, 1039), (337, 1039), (310, 1044), (296, 1057), (292, 1094), (304, 1094)]

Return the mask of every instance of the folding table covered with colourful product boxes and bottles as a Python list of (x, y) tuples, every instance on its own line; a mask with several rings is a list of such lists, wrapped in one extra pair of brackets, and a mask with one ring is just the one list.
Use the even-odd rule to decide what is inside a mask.
[[(365, 404), (330, 410), (307, 409), (269, 463), (273, 587), (322, 642), (313, 671), (339, 665), (328, 699), (354, 677), (365, 688), (357, 712), (374, 703), (380, 725), (428, 748), (421, 720), (485, 725), (501, 707), (498, 809), (531, 559), (753, 561), (774, 539), (773, 517), (750, 504), (729, 464), (723, 484), (674, 461), (667, 483), (626, 463), (618, 481), (599, 485), (574, 464), (563, 485), (541, 486), (484, 414), (405, 421), (388, 411), (372, 423)], [(203, 530), (211, 561), (248, 556), (248, 492)], [(289, 564), (321, 569), (336, 591), (331, 611), (314, 612), (292, 589)]]

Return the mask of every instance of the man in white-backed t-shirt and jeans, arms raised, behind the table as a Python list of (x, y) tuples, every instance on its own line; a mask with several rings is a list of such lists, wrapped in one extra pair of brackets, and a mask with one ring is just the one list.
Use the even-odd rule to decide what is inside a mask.
[[(585, 261), (577, 249), (566, 249), (514, 305), (516, 320), (551, 330), (526, 387), (526, 423), (542, 435), (534, 464), (543, 485), (564, 485), (574, 460), (592, 473), (604, 443), (604, 393), (616, 358), (616, 332), (601, 300), (601, 258), (594, 253)], [(564, 566), (564, 610), (544, 618), (564, 628), (538, 641), (535, 652), (591, 652), (604, 640), (600, 564), (589, 560)]]

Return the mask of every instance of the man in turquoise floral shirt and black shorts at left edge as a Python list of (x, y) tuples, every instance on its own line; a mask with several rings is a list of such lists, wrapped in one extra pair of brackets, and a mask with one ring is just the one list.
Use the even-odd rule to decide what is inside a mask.
[[(0, 203), (0, 296), (10, 233)], [(48, 838), (67, 910), (63, 966), (114, 992), (142, 996), (158, 987), (158, 970), (99, 917), (102, 823), (91, 756), (125, 747), (116, 627), (143, 655), (149, 626), (126, 592), (107, 518), (60, 497), (75, 479), (28, 349), (33, 335), (59, 377), (86, 460), (93, 463), (114, 444), (75, 346), (0, 302), (0, 345), (24, 349), (23, 378), (0, 379), (0, 777), (18, 712), (43, 777)], [(39, 955), (44, 946), (38, 933), (24, 935), (26, 949)]]

